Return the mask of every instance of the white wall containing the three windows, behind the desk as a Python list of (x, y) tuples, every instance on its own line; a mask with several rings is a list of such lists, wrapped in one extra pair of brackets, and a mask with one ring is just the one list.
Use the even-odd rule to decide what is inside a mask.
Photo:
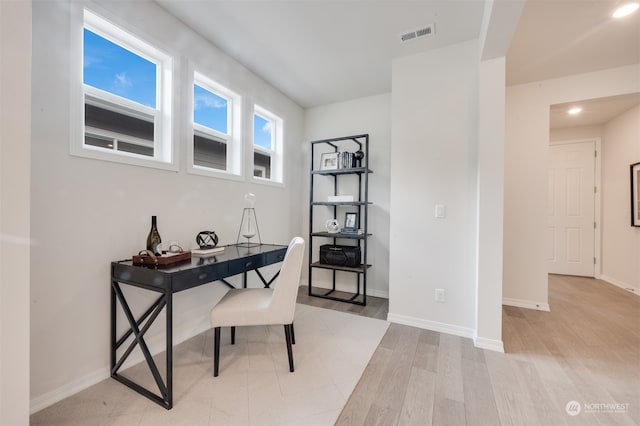
[[(78, 15), (64, 0), (33, 5), (33, 127), (31, 233), (31, 405), (42, 408), (108, 376), (110, 262), (144, 248), (150, 216), (158, 216), (164, 241), (195, 245), (203, 229), (221, 243), (235, 242), (243, 194), (258, 196), (262, 240), (288, 243), (307, 214), (303, 200), (302, 109), (152, 2), (100, 5), (118, 22), (140, 29), (175, 55), (181, 111), (187, 63), (278, 114), (285, 123), (285, 186), (270, 186), (187, 174), (187, 137), (177, 137), (180, 171), (170, 172), (72, 157), (70, 128), (70, 28)], [(81, 16), (81, 14), (80, 14)], [(76, 59), (77, 60), (77, 59)], [(186, 116), (186, 114), (185, 114)], [(177, 133), (186, 133), (181, 121)], [(255, 281), (254, 281), (255, 282)], [(208, 325), (208, 311), (226, 287), (212, 284), (174, 297), (174, 342)], [(129, 292), (138, 309), (141, 292)], [(161, 318), (159, 319), (161, 321)], [(162, 323), (162, 322), (160, 322)], [(161, 327), (149, 341), (159, 348)]]

